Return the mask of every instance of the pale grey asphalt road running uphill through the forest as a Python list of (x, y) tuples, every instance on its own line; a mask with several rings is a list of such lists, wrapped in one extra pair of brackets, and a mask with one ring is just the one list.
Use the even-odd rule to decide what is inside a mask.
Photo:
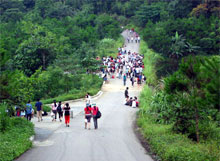
[[(135, 43), (127, 45), (132, 52), (138, 52), (138, 48)], [(138, 96), (142, 87), (131, 87), (130, 81), (128, 86), (129, 94)], [(138, 109), (123, 105), (124, 90), (119, 79), (103, 86), (103, 95), (95, 100), (102, 112), (98, 130), (94, 130), (93, 122), (91, 130), (84, 129), (82, 112), (70, 120), (70, 127), (49, 118), (40, 123), (34, 121), (33, 148), (16, 161), (152, 161), (134, 134)], [(84, 102), (79, 104), (82, 106)]]

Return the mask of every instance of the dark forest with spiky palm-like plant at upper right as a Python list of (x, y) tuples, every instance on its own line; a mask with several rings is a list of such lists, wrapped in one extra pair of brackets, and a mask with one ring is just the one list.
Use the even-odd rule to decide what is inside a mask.
[(136, 24), (148, 47), (163, 57), (159, 78), (176, 71), (183, 57), (219, 54), (219, 13), (219, 2), (209, 0), (148, 1), (140, 7)]

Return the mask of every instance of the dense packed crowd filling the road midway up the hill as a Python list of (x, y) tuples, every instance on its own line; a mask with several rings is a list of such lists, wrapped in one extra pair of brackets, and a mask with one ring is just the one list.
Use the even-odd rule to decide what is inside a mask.
[(122, 78), (124, 86), (126, 86), (127, 80), (130, 80), (132, 86), (135, 82), (140, 85), (146, 80), (143, 74), (144, 56), (136, 52), (132, 53), (130, 50), (126, 51), (125, 47), (126, 45), (118, 49), (116, 58), (112, 56), (102, 58), (103, 66), (105, 66), (101, 69), (102, 78), (104, 82), (107, 81), (108, 76), (110, 78)]

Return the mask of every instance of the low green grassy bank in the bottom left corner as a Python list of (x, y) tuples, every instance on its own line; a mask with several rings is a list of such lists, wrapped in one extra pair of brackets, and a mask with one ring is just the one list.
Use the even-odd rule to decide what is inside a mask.
[(6, 104), (0, 107), (0, 161), (10, 161), (31, 147), (33, 124), (23, 118), (7, 116)]

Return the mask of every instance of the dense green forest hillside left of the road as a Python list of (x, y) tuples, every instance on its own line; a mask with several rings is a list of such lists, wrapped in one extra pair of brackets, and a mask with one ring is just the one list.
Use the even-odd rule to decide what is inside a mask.
[(1, 101), (22, 105), (100, 89), (102, 80), (85, 73), (99, 69), (97, 56), (114, 55), (121, 45), (115, 17), (75, 1), (1, 1), (0, 7)]

